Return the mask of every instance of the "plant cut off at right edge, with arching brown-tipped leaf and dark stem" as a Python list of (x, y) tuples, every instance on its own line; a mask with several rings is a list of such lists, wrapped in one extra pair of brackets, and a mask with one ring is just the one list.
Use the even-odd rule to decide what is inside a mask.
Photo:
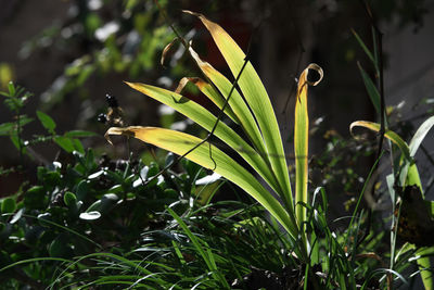
[[(390, 259), (390, 270), (394, 270), (397, 264), (396, 253), (405, 253), (409, 249), (414, 249), (414, 260), (418, 261), (420, 275), (426, 289), (434, 289), (434, 278), (432, 277), (430, 262), (430, 255), (432, 254), (433, 248), (424, 248), (418, 245), (414, 239), (408, 239), (405, 234), (406, 231), (413, 232), (414, 236), (426, 235), (431, 228), (434, 227), (434, 215), (433, 206), (434, 203), (425, 201), (423, 194), (423, 187), (419, 177), (418, 167), (414, 162), (414, 155), (421, 146), (423, 139), (430, 129), (434, 126), (434, 116), (429, 117), (419, 127), (416, 134), (412, 136), (410, 143), (408, 144), (399, 135), (390, 129), (387, 112), (385, 109), (385, 97), (383, 89), (383, 51), (382, 51), (382, 33), (376, 26), (375, 18), (370, 12), (370, 8), (365, 2), (367, 12), (370, 16), (372, 26), (372, 39), (373, 39), (373, 51), (371, 52), (365, 45), (362, 39), (353, 30), (357, 41), (371, 61), (374, 75), (376, 78), (378, 86), (362, 68), (360, 63), (358, 67), (363, 79), (366, 89), (370, 97), (370, 100), (375, 109), (380, 124), (367, 121), (357, 121), (350, 124), (349, 129), (354, 127), (366, 127), (373, 131), (379, 133), (379, 153), (382, 150), (383, 138), (388, 140), (388, 148), (391, 152), (391, 168), (392, 174), (386, 177), (387, 189), (392, 201), (392, 230), (391, 230), (391, 259)], [(399, 151), (399, 157), (394, 156), (396, 147)], [(418, 188), (418, 190), (410, 190), (411, 187)], [(411, 191), (411, 193), (407, 193)], [(412, 202), (411, 202), (412, 201)], [(401, 211), (405, 209), (404, 211)], [(395, 213), (398, 214), (395, 214)], [(416, 212), (419, 212), (416, 214)], [(401, 215), (403, 213), (403, 215)], [(423, 217), (422, 217), (423, 216)], [(406, 220), (406, 222), (403, 222)], [(408, 226), (410, 224), (410, 226)], [(403, 228), (404, 227), (404, 228)], [(424, 234), (422, 234), (424, 232)], [(401, 249), (396, 249), (396, 241), (398, 234), (404, 237), (405, 241), (410, 242), (412, 245), (407, 247), (406, 244)], [(390, 277), (388, 277), (390, 278)], [(392, 287), (392, 282), (388, 281), (388, 286)]]

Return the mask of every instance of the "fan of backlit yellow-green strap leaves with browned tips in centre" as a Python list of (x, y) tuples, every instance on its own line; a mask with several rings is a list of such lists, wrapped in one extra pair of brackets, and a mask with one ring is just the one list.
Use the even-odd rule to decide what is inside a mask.
[[(322, 78), (322, 71), (318, 65), (309, 65), (298, 83), (297, 105), (295, 115), (295, 157), (296, 157), (296, 190), (295, 202), (289, 179), (286, 161), (280, 137), (277, 119), (267, 92), (252, 64), (244, 52), (232, 38), (217, 24), (205, 16), (196, 15), (212, 34), (217, 47), (226, 59), (235, 81), (232, 84), (224, 75), (214, 70), (210, 64), (203, 62), (191, 45), (187, 45), (191, 56), (202, 70), (209, 83), (193, 81), (197, 88), (209, 97), (221, 110), (227, 113), (248, 138), (244, 140), (233, 129), (216, 117), (205, 108), (188, 100), (173, 91), (149, 85), (127, 83), (130, 87), (150, 96), (178, 112), (190, 117), (210, 135), (215, 135), (230, 148), (235, 150), (279, 194), (283, 205), (271, 192), (267, 191), (243, 166), (221, 150), (208, 142), (208, 138), (201, 140), (191, 135), (174, 130), (153, 127), (112, 127), (108, 135), (126, 135), (138, 138), (148, 143), (173, 151), (201, 166), (213, 169), (228, 180), (234, 182), (257, 200), (285, 228), (291, 238), (298, 242), (294, 249), (298, 257), (308, 262), (309, 249), (304, 227), (307, 223), (307, 148), (308, 148), (308, 115), (307, 87), (316, 85), (307, 80), (309, 70), (316, 70)], [(240, 90), (238, 89), (240, 88)], [(242, 97), (243, 96), (243, 97)], [(251, 113), (252, 112), (252, 113)], [(251, 144), (250, 144), (251, 142)]]

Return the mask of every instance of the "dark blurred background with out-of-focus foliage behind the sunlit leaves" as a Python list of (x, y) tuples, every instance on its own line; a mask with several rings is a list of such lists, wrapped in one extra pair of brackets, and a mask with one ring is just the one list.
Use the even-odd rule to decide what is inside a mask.
[[(324, 79), (310, 89), (309, 97), (314, 138), (310, 152), (316, 157), (311, 160), (312, 184), (330, 186), (328, 192), (344, 193), (336, 194), (342, 197), (342, 204), (358, 192), (363, 181), (359, 177), (366, 176), (374, 159), (374, 154), (365, 152), (375, 147), (375, 137), (371, 136), (365, 148), (357, 148), (348, 131), (354, 121), (375, 121), (357, 64), (372, 77), (374, 70), (352, 33), (373, 49), (372, 21), (363, 1), (158, 2), (167, 11), (167, 20), (152, 0), (0, 0), (0, 90), (7, 90), (12, 80), (34, 94), (23, 113), (30, 117), (35, 117), (36, 110), (49, 114), (59, 134), (94, 131), (98, 136), (85, 139), (85, 148), (126, 159), (125, 147), (113, 148), (105, 142), (107, 125), (98, 122), (99, 114), (107, 111), (106, 93), (117, 98), (129, 125), (189, 126), (178, 115), (167, 118), (158, 103), (123, 83), (175, 89), (182, 77), (200, 76), (179, 45), (161, 64), (163, 49), (175, 38), (169, 24), (193, 40), (203, 59), (228, 73), (206, 29), (181, 11), (200, 12), (220, 24), (244, 51), (248, 50), (275, 105), (289, 154), (296, 78), (311, 62), (322, 66)], [(434, 110), (434, 1), (367, 2), (383, 33), (385, 100), (392, 125), (399, 124), (394, 129), (409, 140)], [(196, 91), (190, 89), (187, 93), (207, 105)], [(0, 123), (13, 117), (7, 106), (0, 105)], [(23, 130), (23, 138), (30, 139), (41, 130), (39, 123), (31, 122)], [(0, 137), (2, 168), (18, 164), (18, 154), (8, 136)], [(431, 133), (417, 156), (426, 168), (421, 175), (430, 196), (433, 139)], [(131, 147), (143, 148), (135, 142)], [(59, 157), (60, 150), (55, 144), (35, 144), (33, 151), (38, 157), (26, 162), (36, 168), (44, 160)], [(322, 157), (326, 151), (329, 155)], [(357, 154), (365, 155), (353, 160)], [(326, 167), (333, 167), (333, 173)], [(34, 178), (30, 171), (1, 175), (0, 197), (15, 192), (26, 178)], [(380, 198), (372, 194), (371, 202), (378, 202)]]

